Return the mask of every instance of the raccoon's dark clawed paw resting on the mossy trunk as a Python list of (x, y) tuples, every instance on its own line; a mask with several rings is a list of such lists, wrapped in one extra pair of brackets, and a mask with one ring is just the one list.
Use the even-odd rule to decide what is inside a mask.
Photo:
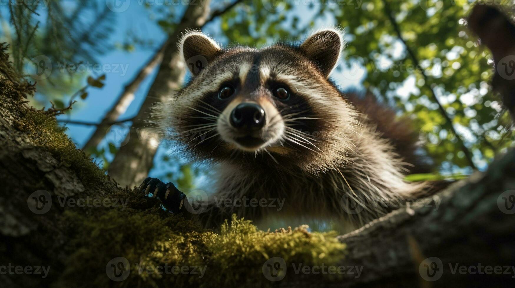
[(163, 206), (174, 214), (180, 212), (186, 197), (186, 194), (179, 191), (173, 183), (164, 184), (158, 178), (151, 177), (141, 183), (138, 194), (141, 193), (145, 193), (145, 195), (152, 193), (152, 198), (159, 198)]

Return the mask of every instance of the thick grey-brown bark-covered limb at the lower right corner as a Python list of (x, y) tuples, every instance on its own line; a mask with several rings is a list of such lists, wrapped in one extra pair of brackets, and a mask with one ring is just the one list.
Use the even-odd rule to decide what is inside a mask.
[[(477, 270), (465, 274), (458, 270), (453, 274), (453, 269), (456, 265), (507, 265), (512, 269), (515, 207), (510, 205), (515, 202), (510, 203), (509, 195), (515, 195), (514, 163), (515, 151), (511, 150), (498, 157), (486, 173), (476, 172), (416, 207), (398, 209), (340, 236), (348, 251), (340, 264), (363, 267), (363, 271), (359, 278), (355, 274), (344, 275), (341, 282), (327, 286), (512, 285), (515, 271), (509, 275), (481, 275)], [(424, 264), (430, 264), (435, 259), (432, 257), (441, 261), (437, 267), (442, 272), (432, 278), (434, 282), (423, 278), (428, 276)], [(427, 258), (432, 259), (424, 262)], [(316, 277), (304, 276), (286, 286), (311, 286), (316, 281)]]

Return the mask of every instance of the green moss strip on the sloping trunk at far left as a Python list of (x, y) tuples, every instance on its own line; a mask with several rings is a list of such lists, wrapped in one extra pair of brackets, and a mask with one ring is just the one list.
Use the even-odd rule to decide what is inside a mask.
[(84, 186), (106, 181), (105, 171), (93, 163), (88, 154), (77, 149), (64, 133), (66, 128), (60, 127), (54, 116), (43, 111), (27, 110), (20, 119), (18, 128), (23, 132), (30, 132), (36, 145), (44, 146), (62, 165), (72, 168)]

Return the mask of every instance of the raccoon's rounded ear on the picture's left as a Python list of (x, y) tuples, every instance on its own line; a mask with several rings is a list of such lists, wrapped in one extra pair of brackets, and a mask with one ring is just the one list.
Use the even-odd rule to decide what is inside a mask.
[(191, 32), (180, 41), (180, 51), (186, 66), (198, 75), (221, 51), (216, 42), (200, 32)]

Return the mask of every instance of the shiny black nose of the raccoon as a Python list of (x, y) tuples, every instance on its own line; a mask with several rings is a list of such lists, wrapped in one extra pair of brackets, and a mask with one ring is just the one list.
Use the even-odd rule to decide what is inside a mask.
[(238, 130), (260, 130), (265, 124), (265, 110), (256, 103), (241, 103), (230, 118), (231, 125)]

